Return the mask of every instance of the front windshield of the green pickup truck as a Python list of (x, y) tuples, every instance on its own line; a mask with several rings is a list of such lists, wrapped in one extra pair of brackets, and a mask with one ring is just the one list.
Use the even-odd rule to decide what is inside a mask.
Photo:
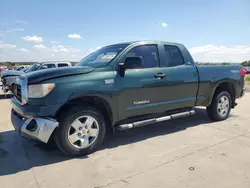
[(128, 44), (106, 46), (83, 58), (76, 66), (104, 67), (111, 62)]

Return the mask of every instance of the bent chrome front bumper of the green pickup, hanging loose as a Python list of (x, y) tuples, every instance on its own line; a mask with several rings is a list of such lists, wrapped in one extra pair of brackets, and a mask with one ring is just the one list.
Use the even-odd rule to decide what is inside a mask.
[(23, 117), (12, 109), (11, 122), (22, 136), (47, 143), (59, 123), (52, 118)]

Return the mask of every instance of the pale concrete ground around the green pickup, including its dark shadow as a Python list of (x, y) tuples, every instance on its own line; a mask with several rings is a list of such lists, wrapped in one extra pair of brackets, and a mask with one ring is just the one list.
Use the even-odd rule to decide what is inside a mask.
[(230, 118), (196, 115), (109, 136), (87, 157), (21, 138), (10, 122), (10, 99), (0, 94), (1, 188), (249, 188), (250, 93)]

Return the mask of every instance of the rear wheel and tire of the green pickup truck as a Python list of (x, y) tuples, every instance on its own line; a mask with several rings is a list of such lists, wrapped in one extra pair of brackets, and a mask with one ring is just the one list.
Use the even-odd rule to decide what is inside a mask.
[[(226, 102), (222, 102), (224, 100), (228, 101), (228, 105), (225, 105), (227, 104)], [(216, 92), (213, 97), (212, 103), (207, 107), (207, 114), (213, 121), (223, 121), (228, 118), (231, 111), (231, 106), (231, 95), (227, 91), (219, 91)], [(223, 107), (225, 107), (225, 111), (222, 110)]]

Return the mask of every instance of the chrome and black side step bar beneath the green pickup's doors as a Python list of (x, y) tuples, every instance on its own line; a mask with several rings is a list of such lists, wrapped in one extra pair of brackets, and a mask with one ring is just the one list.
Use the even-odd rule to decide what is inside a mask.
[(163, 117), (159, 117), (159, 118), (153, 118), (153, 119), (148, 119), (148, 120), (143, 120), (143, 121), (137, 121), (134, 123), (122, 124), (122, 125), (118, 125), (117, 130), (132, 129), (135, 127), (141, 127), (141, 126), (145, 126), (145, 125), (149, 125), (149, 124), (153, 124), (153, 123), (158, 123), (161, 121), (167, 121), (167, 120), (171, 120), (171, 119), (177, 119), (177, 118), (181, 118), (181, 117), (191, 116), (194, 114), (195, 114), (195, 111), (190, 110), (187, 112), (176, 113), (176, 114), (163, 116)]

